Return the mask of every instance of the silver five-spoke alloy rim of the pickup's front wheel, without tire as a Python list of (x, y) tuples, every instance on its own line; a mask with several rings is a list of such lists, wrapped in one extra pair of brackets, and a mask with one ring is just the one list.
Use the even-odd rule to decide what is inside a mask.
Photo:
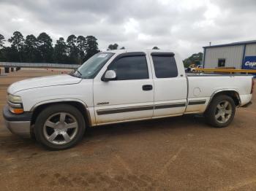
[(52, 144), (67, 144), (78, 133), (78, 121), (72, 114), (66, 112), (52, 114), (45, 121), (43, 133)]

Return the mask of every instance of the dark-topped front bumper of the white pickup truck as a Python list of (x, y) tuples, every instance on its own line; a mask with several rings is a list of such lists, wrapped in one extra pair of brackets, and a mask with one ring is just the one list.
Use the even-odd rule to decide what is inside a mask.
[(6, 127), (13, 133), (23, 138), (29, 138), (31, 132), (32, 112), (12, 114), (8, 106), (4, 106), (3, 116)]

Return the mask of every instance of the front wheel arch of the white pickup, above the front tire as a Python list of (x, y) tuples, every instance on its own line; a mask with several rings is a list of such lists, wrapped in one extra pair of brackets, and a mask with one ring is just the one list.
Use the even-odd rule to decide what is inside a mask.
[(75, 106), (75, 108), (77, 108), (81, 114), (84, 117), (84, 120), (86, 121), (86, 125), (91, 126), (91, 116), (90, 116), (90, 112), (88, 110), (88, 106), (86, 104), (84, 104), (82, 101), (77, 101), (77, 100), (55, 100), (55, 101), (50, 101), (50, 102), (42, 102), (39, 104), (34, 105), (31, 108), (31, 112), (33, 112), (32, 114), (32, 119), (31, 119), (31, 126), (34, 125), (37, 116), (40, 112), (42, 112), (43, 109), (45, 109), (48, 106), (52, 106), (52, 105), (56, 105), (56, 104), (69, 104), (71, 106)]

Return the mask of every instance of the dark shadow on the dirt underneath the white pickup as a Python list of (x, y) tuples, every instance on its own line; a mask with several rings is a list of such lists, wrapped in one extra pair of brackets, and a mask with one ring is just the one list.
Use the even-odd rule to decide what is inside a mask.
[[(96, 128), (87, 128), (83, 142), (93, 141), (98, 137), (105, 139), (130, 136), (131, 134), (160, 133), (162, 130), (189, 129), (189, 128), (210, 128), (206, 125), (204, 117), (197, 115), (186, 115), (181, 117), (168, 117), (157, 120), (143, 120), (137, 122), (122, 122), (112, 125), (102, 125)], [(41, 147), (35, 139), (22, 139), (18, 136), (8, 134), (0, 135), (1, 150), (15, 152), (18, 149), (39, 149)]]

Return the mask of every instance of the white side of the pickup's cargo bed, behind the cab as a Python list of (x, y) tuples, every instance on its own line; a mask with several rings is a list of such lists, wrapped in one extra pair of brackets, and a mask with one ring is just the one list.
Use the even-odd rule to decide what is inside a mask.
[[(211, 97), (219, 91), (234, 91), (240, 95), (241, 106), (251, 99), (249, 94), (252, 85), (252, 75), (248, 74), (203, 74), (187, 73), (188, 101), (203, 101), (205, 105), (188, 106), (186, 112), (205, 111)], [(198, 108), (200, 107), (200, 108)]]

